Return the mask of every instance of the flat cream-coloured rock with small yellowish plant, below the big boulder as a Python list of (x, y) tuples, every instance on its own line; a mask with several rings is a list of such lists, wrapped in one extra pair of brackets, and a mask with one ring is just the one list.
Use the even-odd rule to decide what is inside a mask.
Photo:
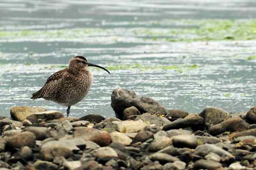
[(144, 129), (146, 126), (148, 126), (143, 121), (115, 121), (113, 123), (117, 124), (117, 130), (122, 133), (132, 133), (132, 132), (138, 132), (141, 129)]

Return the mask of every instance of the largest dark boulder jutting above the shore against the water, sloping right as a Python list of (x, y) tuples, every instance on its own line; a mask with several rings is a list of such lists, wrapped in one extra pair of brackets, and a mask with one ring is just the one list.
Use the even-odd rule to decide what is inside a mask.
[(111, 107), (115, 111), (116, 118), (123, 119), (123, 111), (131, 106), (135, 106), (140, 113), (162, 113), (164, 115), (168, 113), (168, 110), (152, 98), (137, 98), (134, 92), (123, 88), (116, 88), (112, 92)]

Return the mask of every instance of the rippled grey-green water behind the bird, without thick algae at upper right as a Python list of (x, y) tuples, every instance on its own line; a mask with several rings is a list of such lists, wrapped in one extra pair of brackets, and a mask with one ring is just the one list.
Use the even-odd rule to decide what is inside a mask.
[(204, 33), (191, 30), (201, 19), (247, 23), (255, 7), (254, 0), (0, 0), (0, 114), (9, 116), (15, 105), (65, 113), (66, 107), (30, 97), (75, 55), (111, 74), (90, 69), (94, 84), (71, 116), (114, 116), (110, 95), (118, 87), (189, 113), (207, 105), (248, 111), (256, 105), (255, 38), (193, 41)]

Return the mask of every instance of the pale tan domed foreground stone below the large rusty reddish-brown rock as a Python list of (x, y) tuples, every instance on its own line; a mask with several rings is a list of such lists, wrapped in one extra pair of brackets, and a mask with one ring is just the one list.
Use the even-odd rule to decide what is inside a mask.
[(111, 147), (100, 147), (93, 150), (91, 154), (97, 158), (118, 157), (115, 150), (113, 150)]

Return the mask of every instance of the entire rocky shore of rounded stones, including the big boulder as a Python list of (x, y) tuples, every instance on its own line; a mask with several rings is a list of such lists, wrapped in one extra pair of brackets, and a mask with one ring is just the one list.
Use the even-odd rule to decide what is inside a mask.
[(256, 107), (167, 110), (118, 88), (116, 117), (13, 106), (0, 117), (0, 170), (255, 170)]

